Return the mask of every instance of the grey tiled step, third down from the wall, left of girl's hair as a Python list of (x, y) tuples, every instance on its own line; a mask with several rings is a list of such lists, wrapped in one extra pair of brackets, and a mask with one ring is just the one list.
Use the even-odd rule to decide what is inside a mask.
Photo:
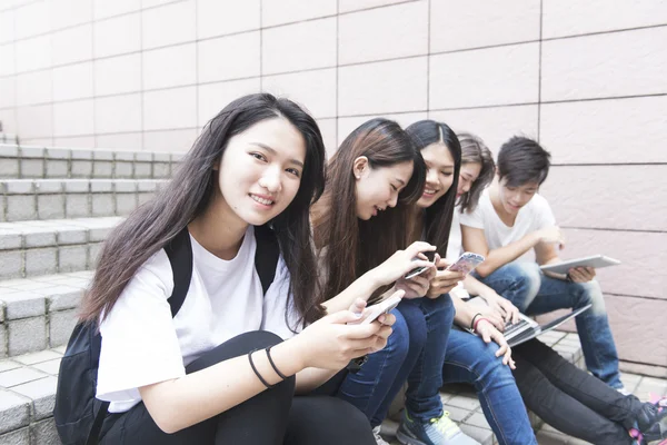
[(122, 217), (0, 222), (0, 280), (90, 270)]

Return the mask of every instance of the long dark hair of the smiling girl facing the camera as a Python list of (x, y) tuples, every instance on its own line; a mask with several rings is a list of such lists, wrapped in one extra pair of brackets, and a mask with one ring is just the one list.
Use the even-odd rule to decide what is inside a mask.
[(229, 139), (255, 123), (287, 119), (306, 141), (306, 162), (299, 190), (290, 205), (268, 224), (290, 273), (290, 291), (301, 322), (318, 319), (317, 264), (311, 244), (309, 208), (325, 188), (326, 152), (312, 117), (288, 99), (267, 93), (249, 95), (229, 103), (207, 123), (183, 158), (173, 179), (149, 202), (136, 209), (107, 238), (92, 285), (83, 299), (82, 320), (109, 314), (139, 267), (163, 248), (192, 219), (202, 214), (218, 187), (213, 167)]

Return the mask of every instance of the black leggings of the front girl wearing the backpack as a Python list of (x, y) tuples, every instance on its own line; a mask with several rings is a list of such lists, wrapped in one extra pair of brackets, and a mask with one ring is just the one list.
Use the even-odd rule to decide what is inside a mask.
[[(187, 366), (193, 373), (252, 349), (282, 342), (267, 332), (241, 334), (208, 352)], [(127, 413), (104, 419), (101, 444), (175, 445), (375, 445), (364, 413), (329, 396), (295, 396), (295, 377), (208, 421), (173, 434), (163, 433), (140, 403)]]

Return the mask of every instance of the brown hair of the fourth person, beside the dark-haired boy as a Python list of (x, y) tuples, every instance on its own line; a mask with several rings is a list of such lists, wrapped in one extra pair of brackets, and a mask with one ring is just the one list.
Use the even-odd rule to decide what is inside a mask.
[(491, 150), (477, 136), (469, 132), (459, 132), (458, 139), (461, 144), (461, 165), (479, 164), (481, 166), (479, 176), (470, 186), (470, 190), (459, 198), (458, 204), (461, 206), (462, 214), (464, 211), (472, 211), (477, 207), (479, 196), (494, 179), (496, 162), (494, 162)]

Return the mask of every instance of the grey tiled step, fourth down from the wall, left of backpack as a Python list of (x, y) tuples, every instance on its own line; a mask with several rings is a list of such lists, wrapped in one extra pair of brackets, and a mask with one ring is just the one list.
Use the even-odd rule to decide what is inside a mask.
[(0, 358), (67, 344), (92, 271), (0, 281)]

